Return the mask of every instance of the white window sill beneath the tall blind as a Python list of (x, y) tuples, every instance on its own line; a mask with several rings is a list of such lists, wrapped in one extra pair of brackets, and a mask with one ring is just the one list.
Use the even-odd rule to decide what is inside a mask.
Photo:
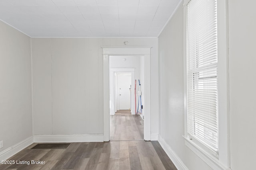
[(201, 158), (206, 164), (208, 164), (214, 170), (231, 170), (230, 168), (225, 167), (220, 160), (206, 152), (204, 149), (196, 145), (192, 140), (183, 136), (185, 139), (185, 145), (192, 150), (199, 158)]

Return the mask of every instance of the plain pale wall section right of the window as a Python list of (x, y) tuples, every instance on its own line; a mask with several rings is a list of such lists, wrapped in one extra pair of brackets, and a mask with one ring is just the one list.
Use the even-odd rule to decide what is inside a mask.
[(255, 169), (256, 2), (229, 1), (230, 152), (232, 170)]

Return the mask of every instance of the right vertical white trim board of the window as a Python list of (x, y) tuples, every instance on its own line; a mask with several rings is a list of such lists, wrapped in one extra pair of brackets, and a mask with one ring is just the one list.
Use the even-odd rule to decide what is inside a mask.
[(228, 0), (217, 0), (219, 160), (230, 167)]

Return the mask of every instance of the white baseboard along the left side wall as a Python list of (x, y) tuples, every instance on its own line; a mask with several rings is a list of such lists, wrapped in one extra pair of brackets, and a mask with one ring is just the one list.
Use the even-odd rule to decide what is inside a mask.
[(33, 136), (28, 137), (27, 139), (24, 139), (16, 145), (13, 145), (12, 147), (3, 150), (2, 152), (0, 152), (0, 160), (7, 160), (14, 154), (31, 145), (32, 143), (34, 143)]

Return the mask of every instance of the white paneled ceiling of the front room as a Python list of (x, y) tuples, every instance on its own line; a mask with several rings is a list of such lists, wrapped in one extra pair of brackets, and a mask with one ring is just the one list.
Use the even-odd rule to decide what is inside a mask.
[(180, 0), (0, 0), (30, 37), (157, 37)]

